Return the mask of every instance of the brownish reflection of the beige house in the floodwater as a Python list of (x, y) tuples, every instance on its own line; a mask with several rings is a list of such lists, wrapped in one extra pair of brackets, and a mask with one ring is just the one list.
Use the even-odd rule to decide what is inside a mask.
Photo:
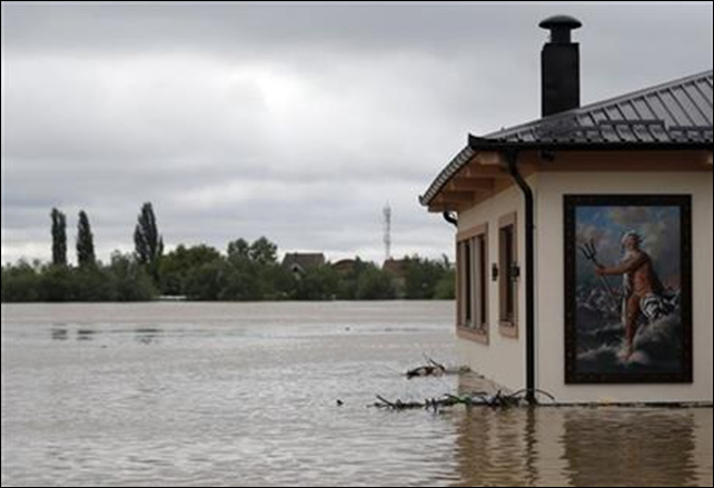
[(711, 485), (711, 476), (700, 479), (702, 414), (711, 417), (706, 409), (475, 408), (457, 428), (454, 486)]

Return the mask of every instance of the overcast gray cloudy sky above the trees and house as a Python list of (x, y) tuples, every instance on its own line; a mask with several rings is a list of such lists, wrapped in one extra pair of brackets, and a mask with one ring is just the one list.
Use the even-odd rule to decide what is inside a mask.
[[(486, 133), (538, 118), (537, 23), (579, 18), (583, 102), (712, 67), (701, 3), (2, 3), (2, 261), (50, 258), (49, 212), (131, 250), (450, 253), (417, 197)], [(73, 245), (70, 241), (70, 245)]]

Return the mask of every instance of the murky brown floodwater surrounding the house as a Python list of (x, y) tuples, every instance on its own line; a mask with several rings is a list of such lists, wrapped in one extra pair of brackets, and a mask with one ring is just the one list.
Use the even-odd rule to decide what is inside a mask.
[(486, 388), (403, 376), (455, 363), (452, 321), (449, 302), (3, 305), (2, 486), (712, 486), (712, 409), (368, 408)]

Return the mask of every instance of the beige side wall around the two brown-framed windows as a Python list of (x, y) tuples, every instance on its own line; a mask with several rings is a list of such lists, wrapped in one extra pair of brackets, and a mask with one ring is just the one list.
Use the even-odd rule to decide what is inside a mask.
[[(535, 185), (535, 178), (530, 179)], [(519, 337), (504, 337), (499, 333), (499, 295), (498, 283), (490, 279), (490, 263), (498, 262), (498, 219), (508, 213), (517, 212), (518, 222), (518, 261), (523, 265), (525, 256), (525, 226), (523, 218), (523, 195), (515, 187), (505, 190), (494, 198), (479, 203), (477, 207), (460, 212), (458, 216), (459, 231), (488, 223), (489, 240), (489, 289), (488, 315), (489, 343), (478, 343), (469, 339), (458, 339), (457, 350), (463, 365), (484, 375), (492, 381), (513, 391), (525, 388), (525, 287), (524, 279), (518, 283), (518, 317)]]

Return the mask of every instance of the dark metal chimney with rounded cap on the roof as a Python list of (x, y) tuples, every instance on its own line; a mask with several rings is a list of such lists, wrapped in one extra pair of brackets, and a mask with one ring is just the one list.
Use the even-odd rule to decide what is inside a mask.
[(539, 27), (551, 31), (541, 53), (542, 114), (564, 112), (581, 106), (579, 44), (571, 31), (583, 24), (569, 16), (548, 17)]

